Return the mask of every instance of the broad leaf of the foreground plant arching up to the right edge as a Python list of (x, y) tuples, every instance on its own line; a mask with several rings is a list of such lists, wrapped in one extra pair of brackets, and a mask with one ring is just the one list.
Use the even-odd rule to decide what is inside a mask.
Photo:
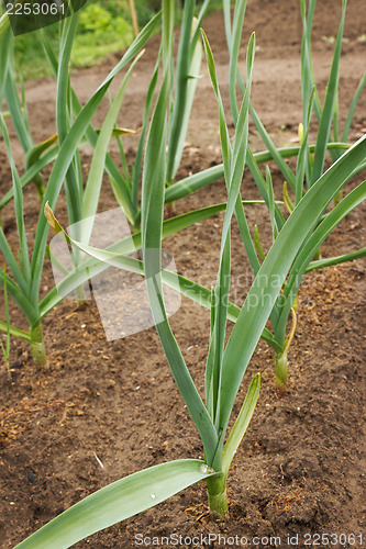
[[(223, 357), (221, 388), (222, 444), (229, 417), (247, 363), (254, 352), (276, 299), (309, 232), (354, 166), (366, 154), (366, 136), (348, 149), (307, 192), (284, 225), (247, 294)], [(297, 238), (293, 238), (296, 232)], [(244, 341), (244, 344), (243, 344)]]

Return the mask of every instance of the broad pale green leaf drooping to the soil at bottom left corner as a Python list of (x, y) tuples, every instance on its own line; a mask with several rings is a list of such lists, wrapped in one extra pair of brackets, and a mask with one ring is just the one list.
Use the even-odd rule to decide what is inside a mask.
[(179, 459), (144, 469), (88, 495), (16, 549), (66, 549), (213, 474), (217, 473), (198, 459)]

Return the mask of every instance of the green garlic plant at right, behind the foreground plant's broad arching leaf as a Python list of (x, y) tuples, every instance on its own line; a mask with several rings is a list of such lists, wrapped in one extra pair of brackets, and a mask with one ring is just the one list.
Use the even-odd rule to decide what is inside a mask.
[[(339, 142), (340, 135), (337, 96), (342, 41), (346, 16), (346, 0), (342, 0), (341, 21), (334, 43), (333, 60), (329, 74), (324, 102), (323, 104), (321, 104), (318, 88), (314, 81), (311, 55), (311, 29), (317, 7), (317, 0), (309, 0), (308, 2), (306, 0), (300, 0), (299, 2), (303, 29), (301, 41), (301, 98), (303, 120), (299, 126), (300, 148), (297, 155), (295, 172), (279, 154), (279, 150), (277, 149), (268, 132), (263, 125), (252, 102), (249, 105), (251, 116), (258, 131), (258, 134), (260, 135), (265, 146), (268, 148), (269, 153), (273, 156), (273, 159), (277, 164), (285, 178), (284, 201), (289, 214), (291, 214), (296, 205), (300, 203), (304, 194), (311, 189), (314, 182), (318, 181), (323, 173), (326, 161), (326, 150), (329, 150), (330, 153), (331, 161), (334, 163), (336, 159), (341, 158), (341, 156), (344, 154), (345, 148), (348, 147), (347, 141), (350, 136), (352, 120), (355, 113), (357, 101), (366, 85), (365, 72), (361, 78), (359, 85), (355, 90), (354, 97), (351, 101), (341, 142)], [(237, 41), (237, 36), (241, 33), (246, 4), (246, 0), (237, 1), (235, 3), (233, 22), (231, 22), (230, 2), (224, 0), (225, 32), (228, 47), (230, 51), (230, 104), (234, 124), (237, 119), (236, 85), (239, 85), (242, 93), (245, 93), (245, 87), (237, 70), (240, 44), (240, 42)], [(313, 112), (315, 114), (318, 126), (315, 145), (310, 146), (309, 132), (311, 128), (311, 119)], [(259, 192), (262, 193), (268, 205), (273, 237), (275, 240), (284, 225), (285, 219), (274, 200), (274, 189), (269, 169), (266, 169), (266, 176), (264, 177), (259, 171), (255, 159), (253, 159), (253, 161), (248, 164), (248, 168), (257, 183)], [(352, 179), (365, 168), (366, 160), (363, 159), (363, 161), (358, 166), (354, 167), (354, 170), (350, 173), (348, 179)], [(290, 188), (290, 192), (292, 192), (293, 194), (292, 200), (289, 195), (288, 186)], [(325, 267), (351, 261), (366, 255), (366, 248), (359, 248), (352, 253), (343, 254), (337, 257), (321, 259), (320, 246), (317, 248), (313, 245), (314, 243), (319, 242), (319, 235), (321, 234), (323, 235), (320, 238), (322, 243), (326, 238), (329, 233), (334, 228), (334, 226), (345, 215), (347, 215), (347, 213), (353, 208), (355, 208), (355, 205), (364, 200), (362, 188), (358, 188), (358, 191), (354, 191), (353, 193), (351, 193), (345, 201), (342, 201), (342, 197), (343, 189), (341, 189), (340, 193), (334, 197), (334, 210), (329, 214), (324, 213), (324, 217), (319, 221), (319, 223), (321, 223), (321, 226), (318, 226), (319, 224), (313, 226), (312, 234), (309, 235), (309, 242), (303, 249), (299, 250), (298, 257), (296, 258), (296, 261), (290, 269), (289, 277), (285, 281), (281, 289), (281, 295), (278, 300), (278, 303), (275, 305), (270, 316), (273, 324), (273, 337), (278, 345), (277, 349), (274, 346), (273, 347), (275, 350), (275, 372), (277, 390), (279, 394), (286, 393), (288, 378), (288, 350), (296, 330), (297, 294), (303, 274), (311, 270), (323, 269)], [(328, 227), (328, 229), (325, 229), (325, 227)], [(249, 259), (251, 257), (253, 257), (251, 266), (254, 273), (256, 273), (258, 262), (256, 256), (253, 254), (253, 243), (249, 238), (247, 238), (246, 240), (244, 240), (244, 244)], [(254, 231), (254, 244), (256, 247), (258, 259), (263, 260), (265, 256), (260, 246), (257, 227), (255, 227)], [(291, 326), (289, 328), (289, 333), (287, 334), (289, 320), (291, 322)]]

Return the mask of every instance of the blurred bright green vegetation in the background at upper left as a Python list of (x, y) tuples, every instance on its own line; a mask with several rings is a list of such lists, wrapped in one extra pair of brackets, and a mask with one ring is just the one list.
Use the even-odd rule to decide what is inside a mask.
[[(182, 4), (184, 0), (177, 0)], [(160, 9), (159, 0), (134, 0), (140, 29)], [(197, 2), (198, 5), (201, 3)], [(210, 11), (218, 10), (221, 0), (212, 0)], [(179, 24), (179, 11), (178, 21)], [(58, 24), (49, 25), (42, 32), (57, 51)], [(78, 36), (71, 60), (77, 67), (101, 63), (109, 54), (126, 48), (133, 40), (132, 18), (129, 0), (89, 0), (81, 9)], [(51, 75), (49, 66), (38, 41), (38, 32), (15, 36), (15, 69), (23, 79)]]

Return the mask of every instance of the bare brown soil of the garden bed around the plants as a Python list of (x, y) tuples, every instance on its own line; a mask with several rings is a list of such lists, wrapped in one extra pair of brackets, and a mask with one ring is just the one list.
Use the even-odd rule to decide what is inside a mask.
[[(249, 1), (245, 40), (255, 30), (253, 100), (279, 145), (296, 138), (301, 117), (299, 52), (301, 25), (298, 1)], [(336, 5), (334, 5), (336, 4)], [(322, 40), (336, 34), (341, 1), (319, 2), (314, 24), (314, 68), (323, 90), (333, 46)], [(348, 0), (340, 86), (344, 117), (365, 68), (364, 0)], [(224, 99), (228, 55), (223, 20), (204, 22)], [(138, 126), (146, 82), (156, 55), (152, 40), (126, 92), (121, 125)], [(242, 58), (244, 59), (244, 48)], [(96, 89), (115, 63), (79, 71), (73, 85), (81, 100)], [(54, 132), (55, 85), (49, 78), (29, 82), (26, 98), (35, 142)], [(366, 93), (356, 111), (352, 138), (365, 131)], [(96, 117), (102, 120), (103, 109)], [(342, 127), (342, 125), (341, 125)], [(252, 128), (252, 143), (259, 141)], [(208, 78), (200, 80), (180, 176), (220, 161), (217, 105)], [(10, 187), (10, 171), (1, 145), (1, 190)], [(131, 155), (134, 142), (131, 142)], [(14, 153), (21, 158), (14, 142)], [(90, 164), (85, 148), (82, 161)], [(276, 195), (281, 176), (273, 167)], [(29, 237), (38, 215), (34, 188), (25, 189)], [(256, 197), (248, 175), (243, 197)], [(181, 213), (224, 200), (222, 182), (176, 203)], [(58, 212), (65, 221), (64, 202)], [(106, 184), (100, 210), (115, 205)], [(165, 248), (178, 271), (209, 285), (214, 280), (222, 215), (169, 237)], [(352, 213), (326, 240), (324, 256), (365, 246), (365, 205)], [(249, 226), (258, 223), (268, 246), (270, 234), (260, 206), (248, 209)], [(13, 210), (3, 212), (3, 226), (16, 246)], [(236, 227), (233, 227), (233, 299), (243, 302), (251, 281)], [(260, 397), (247, 435), (229, 478), (230, 520), (217, 524), (207, 514), (203, 484), (176, 495), (148, 512), (99, 533), (75, 547), (132, 548), (135, 535), (184, 537), (203, 535), (196, 547), (219, 547), (225, 535), (252, 538), (256, 547), (318, 545), (317, 535), (333, 547), (366, 546), (365, 497), (365, 276), (362, 260), (331, 268), (304, 279), (299, 298), (299, 326), (290, 351), (289, 391), (278, 400), (274, 386), (273, 352), (260, 343), (243, 384), (262, 373)], [(46, 265), (42, 291), (53, 285)], [(24, 327), (11, 309), (12, 324)], [(208, 350), (209, 313), (182, 300), (171, 326), (200, 391)], [(107, 341), (93, 301), (65, 300), (44, 321), (48, 369), (34, 365), (25, 343), (12, 340), (11, 381), (1, 372), (0, 470), (1, 547), (10, 548), (81, 497), (140, 469), (179, 458), (202, 456), (202, 446), (169, 372), (155, 328)], [(240, 406), (240, 402), (237, 406)], [(236, 411), (237, 411), (236, 406)], [(102, 462), (99, 464), (97, 457)], [(312, 538), (307, 537), (310, 534)], [(356, 536), (355, 540), (352, 535)], [(363, 540), (361, 536), (364, 536)], [(280, 537), (280, 544), (269, 537)], [(265, 537), (268, 537), (266, 540)], [(153, 545), (152, 540), (152, 545)], [(233, 540), (229, 538), (228, 545)], [(308, 541), (308, 542), (307, 542)], [(189, 547), (189, 540), (181, 547)], [(253, 545), (252, 544), (252, 545)], [(155, 544), (157, 545), (157, 544)], [(223, 541), (221, 541), (223, 545)], [(174, 547), (173, 541), (166, 547)], [(49, 548), (52, 549), (52, 548)]]

